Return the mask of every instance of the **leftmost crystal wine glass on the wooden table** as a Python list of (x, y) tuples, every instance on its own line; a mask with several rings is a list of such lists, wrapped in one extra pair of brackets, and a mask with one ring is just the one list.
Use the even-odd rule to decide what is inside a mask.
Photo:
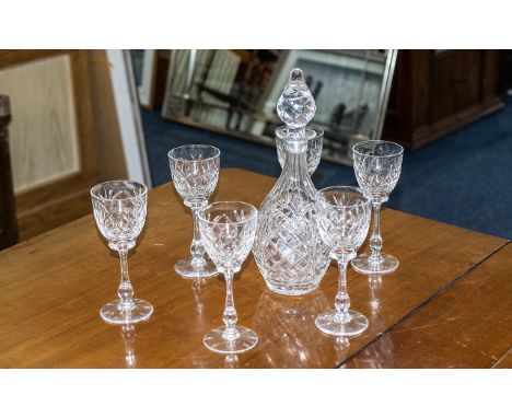
[(94, 219), (108, 247), (120, 258), (118, 300), (107, 303), (100, 315), (110, 324), (133, 324), (147, 320), (153, 306), (133, 299), (133, 288), (128, 275), (128, 252), (136, 246), (146, 222), (148, 188), (137, 182), (113, 181), (91, 189)]

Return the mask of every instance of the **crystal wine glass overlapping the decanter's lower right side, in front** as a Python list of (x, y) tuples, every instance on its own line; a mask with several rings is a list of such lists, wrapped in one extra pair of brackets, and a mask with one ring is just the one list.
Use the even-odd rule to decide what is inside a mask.
[(316, 326), (325, 334), (349, 337), (368, 327), (366, 317), (350, 311), (347, 265), (357, 255), (370, 228), (371, 197), (358, 187), (333, 186), (318, 191), (316, 225), (322, 241), (338, 262), (339, 281), (335, 309), (319, 314)]

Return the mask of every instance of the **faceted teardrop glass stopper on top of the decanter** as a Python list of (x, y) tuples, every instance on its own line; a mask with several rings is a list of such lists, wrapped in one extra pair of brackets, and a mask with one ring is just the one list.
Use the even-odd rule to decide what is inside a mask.
[(315, 100), (305, 83), (301, 69), (294, 68), (290, 72), (281, 96), (277, 104), (279, 118), (289, 128), (304, 128), (316, 112)]

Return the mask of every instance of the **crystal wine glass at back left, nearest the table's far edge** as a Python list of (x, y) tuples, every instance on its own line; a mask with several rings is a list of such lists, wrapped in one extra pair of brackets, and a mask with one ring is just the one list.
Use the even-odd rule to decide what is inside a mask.
[(200, 279), (219, 272), (210, 259), (205, 257), (198, 225), (198, 213), (208, 205), (208, 198), (219, 179), (220, 151), (211, 146), (183, 146), (168, 151), (168, 164), (174, 187), (189, 207), (194, 220), (191, 257), (181, 259), (174, 266), (179, 276)]

